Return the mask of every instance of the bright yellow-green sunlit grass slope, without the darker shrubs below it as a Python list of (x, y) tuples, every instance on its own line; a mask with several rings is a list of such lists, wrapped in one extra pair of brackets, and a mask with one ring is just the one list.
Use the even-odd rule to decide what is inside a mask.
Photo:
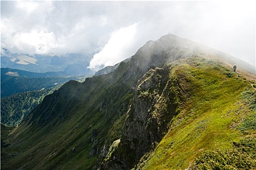
[(149, 161), (141, 159), (143, 170), (186, 169), (201, 151), (231, 149), (245, 136), (237, 129), (240, 122), (255, 114), (248, 104), (248, 98), (256, 101), (250, 83), (219, 63), (188, 60), (173, 68), (172, 76), (192, 95)]

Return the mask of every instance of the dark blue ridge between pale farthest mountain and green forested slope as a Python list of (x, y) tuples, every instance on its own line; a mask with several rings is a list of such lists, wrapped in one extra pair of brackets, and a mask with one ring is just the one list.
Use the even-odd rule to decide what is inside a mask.
[(1, 68), (1, 98), (15, 93), (50, 88), (83, 76), (61, 76), (65, 72), (33, 73), (18, 69)]

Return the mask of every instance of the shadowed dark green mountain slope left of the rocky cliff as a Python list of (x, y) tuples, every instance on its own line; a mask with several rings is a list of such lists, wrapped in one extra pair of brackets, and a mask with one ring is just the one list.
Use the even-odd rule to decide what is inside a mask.
[[(10, 153), (2, 157), (1, 167), (91, 170), (97, 159), (97, 155), (89, 156), (93, 129), (98, 130), (99, 149), (105, 140), (112, 143), (121, 135), (133, 93), (121, 76), (113, 73), (85, 83), (71, 81), (46, 96), (9, 136), (7, 143), (12, 145), (1, 148), (2, 153)], [(120, 82), (113, 85), (116, 80)]]

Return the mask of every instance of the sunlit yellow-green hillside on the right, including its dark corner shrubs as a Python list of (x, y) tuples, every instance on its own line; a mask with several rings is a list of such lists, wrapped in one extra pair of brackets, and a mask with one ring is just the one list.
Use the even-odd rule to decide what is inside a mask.
[[(164, 137), (155, 150), (140, 158), (136, 169), (255, 169), (256, 91), (250, 86), (250, 82), (221, 63), (205, 58), (187, 59), (185, 63), (173, 67), (169, 76), (171, 79), (157, 99), (154, 95), (156, 90), (151, 93), (147, 89), (138, 91), (138, 100), (157, 101), (150, 106), (150, 109), (153, 106), (155, 109), (150, 110), (152, 116), (148, 116), (146, 120), (154, 121), (157, 117), (155, 121), (160, 125), (167, 120), (168, 123), (163, 126), (168, 130), (164, 131)], [(171, 89), (168, 86), (173, 88), (176, 103), (169, 105), (169, 108), (176, 107), (170, 109), (174, 110), (169, 113), (171, 118), (163, 116), (159, 120), (158, 114), (168, 114), (168, 105), (163, 107), (170, 99), (165, 95), (168, 94), (165, 90)], [(141, 96), (145, 91), (148, 92), (147, 98)], [(132, 124), (134, 119), (130, 121)], [(248, 124), (243, 129), (245, 122)], [(147, 126), (148, 124), (145, 129)], [(159, 130), (155, 129), (155, 133), (158, 134)], [(127, 138), (127, 135), (122, 138)], [(251, 151), (236, 153), (233, 143), (239, 145), (244, 141)], [(254, 144), (251, 145), (252, 143)], [(137, 148), (141, 147), (142, 144)], [(195, 160), (199, 153), (201, 157)], [(237, 157), (230, 160), (235, 154)], [(245, 155), (251, 157), (246, 160)]]

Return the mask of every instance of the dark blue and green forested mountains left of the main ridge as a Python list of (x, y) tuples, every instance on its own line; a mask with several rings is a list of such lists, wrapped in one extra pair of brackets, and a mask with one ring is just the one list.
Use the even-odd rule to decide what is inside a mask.
[(35, 73), (1, 68), (1, 124), (18, 126), (45, 96), (69, 80), (83, 81), (89, 77), (65, 75), (65, 72)]

